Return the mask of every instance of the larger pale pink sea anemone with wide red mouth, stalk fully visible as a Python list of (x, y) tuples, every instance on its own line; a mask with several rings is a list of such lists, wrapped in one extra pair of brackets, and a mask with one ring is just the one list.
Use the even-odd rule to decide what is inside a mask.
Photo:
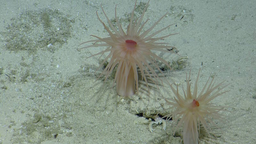
[[(131, 18), (130, 18), (129, 25), (127, 26), (126, 33), (124, 32), (120, 22), (118, 21), (118, 18), (116, 16), (116, 8), (115, 8), (115, 20), (116, 20), (118, 29), (116, 29), (112, 24), (112, 22), (109, 20), (108, 16), (104, 12), (101, 5), (102, 12), (105, 15), (108, 21), (108, 24), (110, 28), (114, 31), (114, 33), (112, 33), (110, 29), (108, 29), (106, 24), (99, 18), (98, 12), (96, 11), (97, 17), (100, 23), (108, 31), (109, 37), (100, 38), (98, 36), (92, 35), (97, 39), (82, 43), (82, 44), (85, 44), (85, 43), (93, 42), (92, 45), (85, 46), (83, 48), (107, 46), (105, 50), (99, 53), (93, 54), (92, 56), (103, 55), (103, 53), (109, 52), (107, 57), (104, 58), (104, 60), (100, 64), (100, 67), (101, 67), (106, 61), (110, 59), (106, 68), (102, 71), (99, 77), (105, 75), (105, 80), (106, 80), (108, 76), (112, 73), (116, 65), (118, 65), (116, 69), (116, 76), (115, 76), (114, 82), (116, 82), (117, 94), (120, 96), (132, 96), (135, 93), (135, 87), (136, 87), (136, 90), (138, 91), (137, 66), (140, 69), (141, 78), (142, 80), (144, 79), (147, 87), (148, 87), (147, 76), (150, 79), (153, 78), (152, 82), (155, 84), (156, 84), (156, 81), (154, 79), (156, 78), (160, 79), (154, 70), (154, 67), (155, 67), (162, 73), (162, 71), (160, 70), (160, 68), (156, 63), (157, 60), (162, 61), (166, 66), (171, 68), (166, 60), (154, 54), (152, 50), (161, 51), (161, 52), (171, 52), (171, 51), (168, 51), (167, 49), (172, 48), (172, 46), (163, 45), (167, 43), (161, 43), (156, 41), (164, 39), (171, 35), (175, 35), (175, 34), (169, 34), (166, 36), (154, 38), (154, 36), (156, 36), (163, 30), (171, 26), (171, 25), (168, 25), (149, 35), (149, 32), (166, 16), (166, 14), (162, 16), (159, 20), (157, 20), (156, 23), (153, 24), (150, 28), (148, 28), (145, 31), (142, 31), (142, 28), (149, 20), (148, 19), (145, 22), (142, 22), (143, 16), (148, 7), (148, 3), (142, 15), (140, 16), (140, 18), (133, 20), (134, 10), (136, 7), (136, 1), (135, 1), (135, 5), (131, 13)], [(80, 49), (83, 49), (83, 48), (80, 48)], [(148, 89), (148, 92), (149, 92), (149, 89)]]

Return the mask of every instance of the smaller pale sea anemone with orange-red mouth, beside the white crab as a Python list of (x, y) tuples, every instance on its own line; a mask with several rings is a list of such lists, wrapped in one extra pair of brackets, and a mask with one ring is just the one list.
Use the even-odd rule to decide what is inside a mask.
[[(198, 136), (200, 133), (200, 127), (199, 124), (203, 125), (206, 132), (209, 134), (207, 127), (207, 123), (212, 123), (216, 126), (216, 124), (212, 121), (212, 119), (218, 119), (218, 120), (224, 120), (224, 116), (220, 114), (220, 111), (227, 111), (225, 110), (226, 107), (223, 106), (217, 106), (216, 104), (212, 103), (211, 100), (214, 98), (222, 95), (225, 92), (221, 92), (227, 85), (223, 85), (223, 82), (220, 84), (217, 84), (214, 86), (215, 82), (214, 76), (211, 79), (211, 76), (208, 78), (207, 82), (205, 83), (202, 91), (197, 95), (197, 82), (199, 79), (199, 73), (200, 69), (197, 75), (195, 87), (193, 90), (193, 94), (191, 93), (190, 86), (190, 73), (189, 76), (186, 76), (186, 82), (187, 82), (187, 89), (186, 92), (182, 86), (182, 90), (184, 93), (184, 97), (182, 97), (178, 90), (178, 84), (176, 90), (171, 86), (172, 92), (174, 93), (175, 97), (174, 99), (165, 99), (167, 104), (171, 105), (172, 107), (166, 109), (172, 109), (176, 108), (172, 113), (164, 116), (167, 117), (167, 119), (170, 119), (171, 117), (175, 117), (173, 122), (177, 123), (178, 125), (174, 131), (176, 132), (177, 128), (183, 124), (183, 142), (184, 144), (198, 144)], [(210, 83), (209, 83), (210, 82)], [(208, 86), (207, 86), (208, 85)], [(205, 92), (204, 92), (205, 91)], [(174, 134), (173, 133), (173, 134)]]

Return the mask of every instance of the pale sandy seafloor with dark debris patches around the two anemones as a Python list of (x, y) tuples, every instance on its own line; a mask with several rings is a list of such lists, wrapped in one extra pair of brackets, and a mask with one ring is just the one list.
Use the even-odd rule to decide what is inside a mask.
[[(151, 133), (145, 118), (168, 108), (164, 98), (173, 97), (168, 85), (157, 89), (151, 84), (150, 98), (143, 83), (131, 98), (117, 96), (113, 77), (104, 83), (102, 78), (97, 80), (102, 68), (94, 73), (103, 58), (86, 60), (104, 47), (76, 50), (82, 42), (94, 39), (90, 35), (108, 36), (96, 16), (98, 10), (107, 22), (101, 3), (113, 20), (116, 4), (121, 19), (132, 11), (135, 1), (1, 1), (0, 143), (182, 143), (180, 129), (172, 135), (176, 127), (172, 121), (165, 131), (157, 125)], [(213, 100), (228, 107), (229, 112), (222, 112), (228, 116), (227, 123), (214, 120), (218, 127), (209, 124), (210, 135), (202, 129), (200, 143), (256, 143), (255, 12), (254, 0), (149, 2), (143, 20), (150, 20), (145, 28), (167, 13), (153, 32), (177, 24), (157, 36), (179, 33), (160, 42), (188, 56), (183, 61), (186, 67), (165, 71), (165, 79), (185, 84), (192, 67), (193, 88), (203, 62), (199, 90), (211, 74), (216, 74), (216, 84), (223, 80), (229, 84), (224, 91), (230, 91)], [(47, 28), (53, 28), (52, 33), (44, 34)], [(49, 45), (47, 39), (54, 43)], [(156, 54), (167, 61), (179, 58)]]

